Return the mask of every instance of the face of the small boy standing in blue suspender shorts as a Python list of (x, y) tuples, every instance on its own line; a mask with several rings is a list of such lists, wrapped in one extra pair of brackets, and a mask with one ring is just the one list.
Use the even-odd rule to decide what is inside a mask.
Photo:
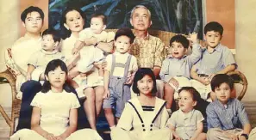
[(131, 46), (130, 39), (127, 36), (122, 35), (115, 40), (115, 46), (116, 52), (124, 54), (128, 52), (128, 49)]

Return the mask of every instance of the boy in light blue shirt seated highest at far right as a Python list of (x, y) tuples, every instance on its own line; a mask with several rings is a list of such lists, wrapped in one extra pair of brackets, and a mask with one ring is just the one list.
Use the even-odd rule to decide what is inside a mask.
[(209, 84), (211, 78), (216, 74), (227, 74), (237, 66), (232, 52), (227, 46), (221, 44), (222, 33), (223, 27), (216, 21), (211, 21), (204, 27), (207, 49), (190, 70), (192, 87), (197, 89), (204, 100), (208, 98), (209, 93), (211, 93), (211, 100), (215, 98)]

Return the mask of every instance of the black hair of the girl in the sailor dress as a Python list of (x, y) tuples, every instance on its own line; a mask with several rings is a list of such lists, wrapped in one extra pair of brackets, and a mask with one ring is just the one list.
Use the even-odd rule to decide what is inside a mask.
[(140, 81), (144, 76), (150, 76), (153, 80), (153, 89), (152, 89), (152, 95), (155, 96), (157, 92), (157, 86), (156, 86), (156, 78), (153, 74), (153, 70), (149, 68), (140, 68), (137, 70), (134, 76), (134, 83), (133, 83), (133, 91), (135, 94), (140, 95), (140, 90), (138, 88), (138, 81)]

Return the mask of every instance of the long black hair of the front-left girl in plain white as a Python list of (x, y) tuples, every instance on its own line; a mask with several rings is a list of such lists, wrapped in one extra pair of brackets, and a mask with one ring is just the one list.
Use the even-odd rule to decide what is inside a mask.
[[(61, 70), (65, 71), (66, 76), (68, 75), (66, 64), (60, 59), (53, 59), (47, 64), (47, 68), (45, 70), (45, 76), (48, 76), (50, 71), (56, 70), (58, 67), (60, 67)], [(51, 83), (45, 80), (42, 86), (41, 92), (47, 93), (50, 89), (51, 89)], [(64, 83), (63, 89), (68, 93), (72, 92), (72, 87), (67, 82)]]

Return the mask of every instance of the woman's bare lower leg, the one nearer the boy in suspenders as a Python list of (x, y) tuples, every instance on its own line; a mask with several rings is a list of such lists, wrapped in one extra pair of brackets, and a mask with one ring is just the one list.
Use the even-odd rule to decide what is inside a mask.
[(103, 86), (97, 86), (95, 89), (95, 96), (96, 96), (96, 115), (98, 117), (99, 113), (101, 113), (103, 107), (103, 94), (104, 88)]

